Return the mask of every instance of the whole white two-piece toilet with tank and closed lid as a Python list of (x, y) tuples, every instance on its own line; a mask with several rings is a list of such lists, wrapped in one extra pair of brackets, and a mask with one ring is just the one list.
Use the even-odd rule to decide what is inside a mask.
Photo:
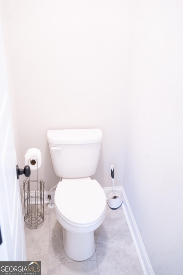
[(83, 261), (95, 252), (94, 231), (106, 214), (104, 190), (90, 178), (97, 169), (102, 131), (48, 130), (47, 140), (55, 174), (62, 178), (54, 209), (62, 225), (64, 251), (72, 260)]

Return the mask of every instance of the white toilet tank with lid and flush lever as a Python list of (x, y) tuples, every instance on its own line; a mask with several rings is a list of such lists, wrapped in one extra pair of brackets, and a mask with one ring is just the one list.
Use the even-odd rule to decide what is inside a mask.
[(100, 129), (48, 130), (47, 140), (58, 177), (82, 178), (95, 174), (102, 143)]

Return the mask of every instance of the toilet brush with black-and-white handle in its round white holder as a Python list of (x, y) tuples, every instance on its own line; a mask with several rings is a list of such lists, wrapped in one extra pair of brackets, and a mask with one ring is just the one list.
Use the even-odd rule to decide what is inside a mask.
[(114, 190), (114, 165), (111, 165), (111, 177), (112, 177), (112, 188), (113, 192), (109, 193), (108, 196), (108, 205), (111, 209), (117, 209), (122, 205), (122, 199), (120, 194)]

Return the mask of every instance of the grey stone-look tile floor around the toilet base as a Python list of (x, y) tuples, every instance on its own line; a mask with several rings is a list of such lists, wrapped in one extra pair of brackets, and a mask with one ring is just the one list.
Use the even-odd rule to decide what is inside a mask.
[(54, 209), (45, 205), (44, 217), (38, 229), (25, 227), (27, 261), (41, 261), (41, 275), (143, 275), (122, 207), (107, 205), (106, 218), (95, 231), (96, 251), (82, 262), (65, 254)]

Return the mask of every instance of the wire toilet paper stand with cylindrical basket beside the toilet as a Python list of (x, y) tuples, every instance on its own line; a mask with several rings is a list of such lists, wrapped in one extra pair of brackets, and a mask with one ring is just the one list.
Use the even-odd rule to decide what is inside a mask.
[[(37, 164), (37, 160), (34, 160)], [(29, 160), (31, 162), (31, 160)], [(37, 164), (38, 166), (38, 164)], [(37, 168), (38, 170), (38, 168)], [(26, 178), (23, 181), (24, 190), (24, 222), (29, 229), (37, 229), (44, 221), (44, 188), (45, 182), (38, 180), (38, 173), (36, 180)]]

